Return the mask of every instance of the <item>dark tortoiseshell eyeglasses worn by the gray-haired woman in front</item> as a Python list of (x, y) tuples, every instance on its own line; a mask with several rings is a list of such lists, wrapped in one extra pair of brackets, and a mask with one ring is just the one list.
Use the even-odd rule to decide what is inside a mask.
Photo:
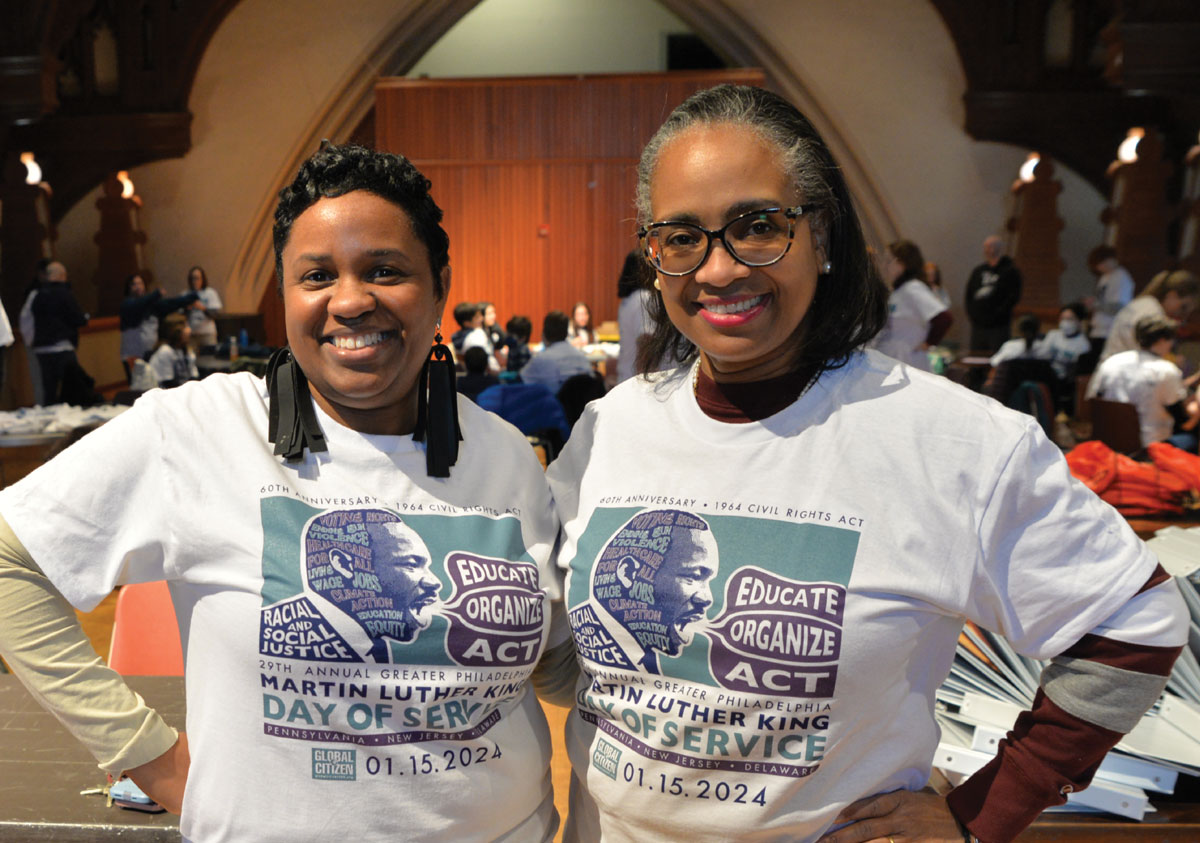
[(638, 229), (646, 257), (664, 275), (689, 275), (700, 269), (720, 239), (725, 250), (746, 267), (769, 267), (792, 247), (794, 222), (803, 205), (762, 208), (737, 216), (715, 232), (690, 222), (652, 222)]

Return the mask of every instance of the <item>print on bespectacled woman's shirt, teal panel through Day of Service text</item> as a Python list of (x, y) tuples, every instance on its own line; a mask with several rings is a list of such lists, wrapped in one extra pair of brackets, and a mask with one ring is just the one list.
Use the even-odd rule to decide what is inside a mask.
[(810, 775), (836, 716), (857, 548), (821, 524), (596, 509), (568, 592), (594, 677), (581, 717), (655, 761)]

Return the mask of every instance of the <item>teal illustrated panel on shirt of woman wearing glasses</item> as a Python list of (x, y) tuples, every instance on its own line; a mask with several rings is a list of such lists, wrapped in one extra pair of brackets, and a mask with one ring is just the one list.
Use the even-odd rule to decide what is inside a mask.
[(679, 509), (596, 509), (570, 562), (581, 656), (779, 695), (836, 681), (858, 532)]

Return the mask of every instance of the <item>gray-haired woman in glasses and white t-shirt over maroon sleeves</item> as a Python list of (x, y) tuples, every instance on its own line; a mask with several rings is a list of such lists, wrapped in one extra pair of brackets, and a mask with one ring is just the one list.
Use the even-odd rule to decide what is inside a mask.
[[(864, 351), (887, 289), (791, 103), (701, 91), (638, 175), (642, 375), (548, 471), (582, 668), (566, 839), (1012, 839), (1158, 698), (1174, 582), (1033, 419)], [(704, 542), (677, 554), (680, 519)], [(937, 794), (965, 621), (1055, 662), (996, 759)]]

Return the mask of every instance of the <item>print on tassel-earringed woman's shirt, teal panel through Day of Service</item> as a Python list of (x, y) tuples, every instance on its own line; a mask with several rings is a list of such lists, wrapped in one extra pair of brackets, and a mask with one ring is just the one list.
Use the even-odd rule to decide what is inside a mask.
[(468, 740), (523, 693), (544, 594), (516, 518), (282, 496), (264, 498), (262, 516), (268, 734)]

